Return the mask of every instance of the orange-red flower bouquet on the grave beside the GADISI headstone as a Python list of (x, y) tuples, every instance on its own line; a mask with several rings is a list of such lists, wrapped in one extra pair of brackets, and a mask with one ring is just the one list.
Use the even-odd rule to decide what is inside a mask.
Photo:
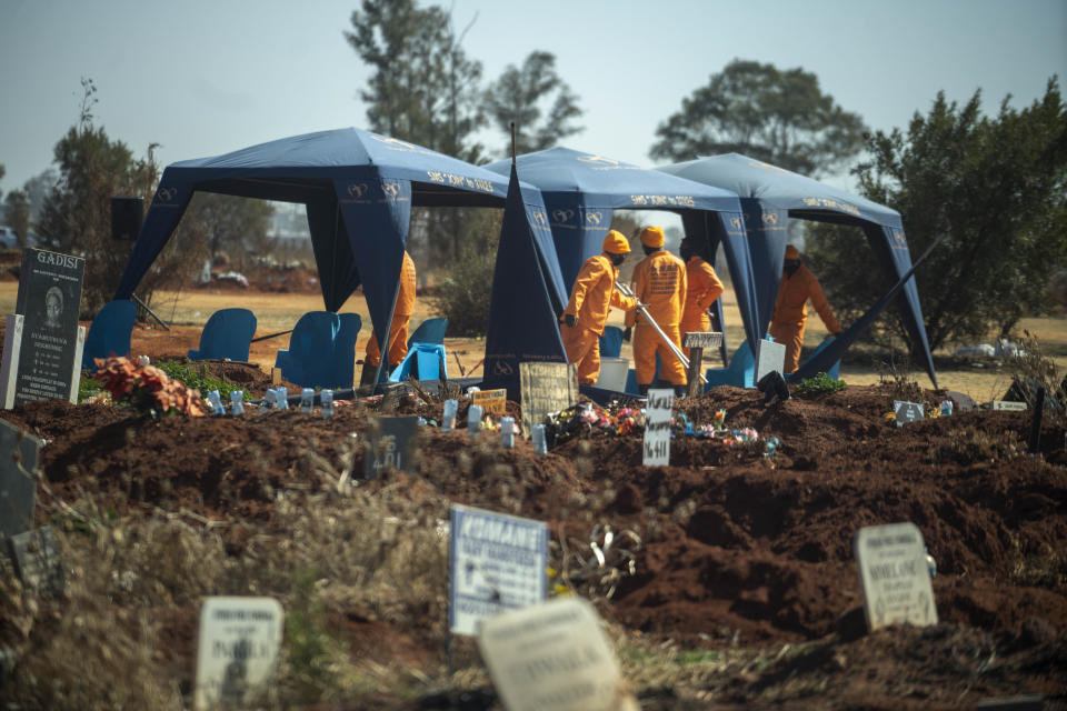
[(111, 393), (116, 404), (129, 405), (153, 420), (177, 412), (190, 417), (202, 417), (207, 412), (198, 390), (171, 380), (154, 365), (141, 365), (117, 356), (98, 358), (96, 363), (98, 370), (93, 379)]

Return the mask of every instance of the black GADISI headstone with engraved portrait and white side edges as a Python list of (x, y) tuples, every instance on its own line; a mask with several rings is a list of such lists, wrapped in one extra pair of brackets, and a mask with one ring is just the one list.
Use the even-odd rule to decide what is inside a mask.
[(78, 401), (86, 329), (78, 324), (86, 260), (22, 250), (16, 313), (9, 314), (0, 367), (0, 404)]

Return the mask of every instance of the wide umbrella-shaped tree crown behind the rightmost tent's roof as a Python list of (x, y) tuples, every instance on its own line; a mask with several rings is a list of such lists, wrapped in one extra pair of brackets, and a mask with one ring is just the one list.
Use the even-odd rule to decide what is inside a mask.
[(672, 161), (737, 152), (816, 178), (862, 148), (864, 122), (801, 68), (735, 59), (656, 129), (649, 156)]

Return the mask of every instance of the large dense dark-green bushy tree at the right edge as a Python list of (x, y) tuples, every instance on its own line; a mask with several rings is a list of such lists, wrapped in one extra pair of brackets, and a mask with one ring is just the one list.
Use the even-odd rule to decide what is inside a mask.
[[(1007, 336), (1020, 318), (1046, 312), (1050, 280), (1067, 264), (1067, 106), (1057, 79), (1023, 110), (1006, 97), (995, 118), (983, 116), (980, 97), (958, 106), (938, 93), (907, 134), (870, 137), (870, 159), (854, 170), (867, 198), (900, 212), (913, 256), (946, 236), (915, 276), (933, 349)], [(869, 306), (889, 286), (868, 278), (880, 270), (839, 229), (812, 230), (808, 251), (836, 307)], [(916, 352), (899, 313), (884, 326)]]

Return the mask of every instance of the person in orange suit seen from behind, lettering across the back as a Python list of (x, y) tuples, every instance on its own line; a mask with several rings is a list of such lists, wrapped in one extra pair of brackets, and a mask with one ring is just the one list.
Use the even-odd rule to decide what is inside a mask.
[[(681, 311), (686, 303), (686, 263), (664, 249), (664, 228), (647, 227), (641, 230), (641, 247), (645, 259), (634, 268), (634, 296), (647, 304), (647, 311), (659, 328), (681, 350)], [(659, 352), (659, 374), (675, 387), (679, 397), (686, 394), (686, 367), (656, 332), (656, 327), (635, 312), (626, 314), (624, 339), (629, 340), (634, 329), (634, 365), (637, 370), (637, 389), (644, 395), (656, 374), (656, 353)]]

